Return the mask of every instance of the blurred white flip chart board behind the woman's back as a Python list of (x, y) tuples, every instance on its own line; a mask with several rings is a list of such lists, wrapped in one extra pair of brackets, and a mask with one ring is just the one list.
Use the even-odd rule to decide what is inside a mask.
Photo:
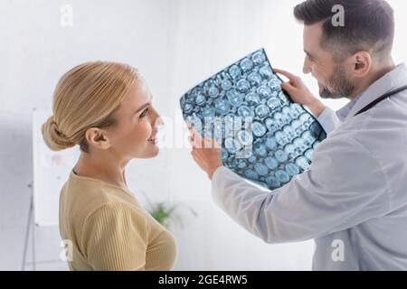
[(38, 226), (57, 226), (63, 184), (80, 155), (79, 146), (53, 152), (43, 141), (41, 126), (52, 116), (49, 109), (33, 110), (33, 205)]

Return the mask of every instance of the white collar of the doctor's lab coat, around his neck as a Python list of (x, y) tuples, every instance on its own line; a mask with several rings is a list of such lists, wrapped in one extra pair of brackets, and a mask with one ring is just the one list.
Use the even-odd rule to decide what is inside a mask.
[[(364, 107), (368, 106), (375, 99), (382, 97), (387, 92), (399, 89), (407, 85), (407, 67), (404, 63), (396, 66), (392, 71), (385, 74), (382, 78), (374, 81), (346, 107), (352, 107), (345, 120), (355, 117), (355, 115)], [(344, 107), (345, 108), (345, 107)]]

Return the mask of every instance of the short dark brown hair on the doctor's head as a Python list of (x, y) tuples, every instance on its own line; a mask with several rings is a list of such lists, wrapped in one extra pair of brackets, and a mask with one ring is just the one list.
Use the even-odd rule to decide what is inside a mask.
[[(332, 19), (335, 5), (345, 11), (345, 25)], [(322, 23), (321, 47), (341, 61), (357, 51), (369, 51), (379, 60), (391, 57), (394, 39), (393, 8), (384, 0), (308, 0), (294, 8), (294, 16), (306, 25)]]

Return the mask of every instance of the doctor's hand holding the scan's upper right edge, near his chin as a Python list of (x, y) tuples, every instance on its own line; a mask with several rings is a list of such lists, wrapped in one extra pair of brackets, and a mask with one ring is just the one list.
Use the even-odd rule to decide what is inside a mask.
[(308, 107), (315, 117), (319, 117), (322, 114), (325, 109), (324, 104), (314, 97), (304, 82), (302, 82), (302, 79), (285, 70), (273, 69), (273, 71), (289, 79), (289, 82), (281, 84), (281, 88), (289, 93), (294, 102)]

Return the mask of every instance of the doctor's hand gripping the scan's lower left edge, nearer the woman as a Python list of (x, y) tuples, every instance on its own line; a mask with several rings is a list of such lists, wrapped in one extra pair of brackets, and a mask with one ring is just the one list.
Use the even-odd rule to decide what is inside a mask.
[(209, 179), (212, 180), (213, 172), (222, 164), (222, 151), (216, 141), (212, 138), (203, 137), (196, 132), (192, 126), (188, 126), (191, 132), (189, 142), (192, 146), (192, 156), (195, 163), (208, 174)]

